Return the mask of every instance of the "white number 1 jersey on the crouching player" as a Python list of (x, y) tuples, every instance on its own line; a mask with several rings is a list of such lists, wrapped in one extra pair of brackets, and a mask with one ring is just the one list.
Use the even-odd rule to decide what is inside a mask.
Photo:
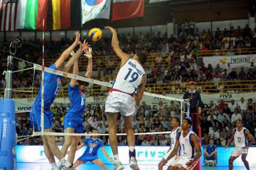
[(195, 157), (195, 147), (191, 141), (193, 134), (195, 134), (195, 132), (191, 130), (186, 137), (183, 137), (183, 131), (181, 133), (178, 133), (178, 140), (181, 147), (181, 157), (184, 157), (186, 159), (193, 159), (193, 157)]

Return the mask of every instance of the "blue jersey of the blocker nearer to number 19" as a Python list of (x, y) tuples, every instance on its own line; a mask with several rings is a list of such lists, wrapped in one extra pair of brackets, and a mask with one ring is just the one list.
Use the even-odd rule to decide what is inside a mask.
[(86, 109), (86, 91), (80, 91), (78, 85), (71, 87), (70, 82), (68, 90), (70, 108), (67, 113), (83, 117), (84, 109)]

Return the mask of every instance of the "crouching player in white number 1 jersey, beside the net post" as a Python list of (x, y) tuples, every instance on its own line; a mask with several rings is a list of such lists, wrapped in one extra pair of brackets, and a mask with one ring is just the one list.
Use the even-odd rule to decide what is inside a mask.
[(201, 146), (198, 142), (198, 136), (196, 136), (195, 132), (189, 130), (191, 125), (190, 119), (185, 118), (183, 120), (181, 125), (183, 131), (178, 133), (173, 151), (164, 161), (164, 165), (178, 153), (179, 147), (181, 147), (181, 155), (172, 162), (168, 170), (193, 169), (199, 162), (199, 158), (202, 155)]

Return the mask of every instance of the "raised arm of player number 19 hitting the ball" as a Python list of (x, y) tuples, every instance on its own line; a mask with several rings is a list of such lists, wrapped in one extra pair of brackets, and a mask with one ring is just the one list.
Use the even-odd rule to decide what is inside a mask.
[(111, 26), (105, 26), (105, 29), (109, 29), (112, 32), (111, 46), (113, 47), (113, 50), (116, 53), (116, 55), (121, 59), (122, 66), (123, 64), (125, 64), (127, 59), (129, 59), (129, 56), (126, 53), (122, 52), (122, 50), (119, 47), (116, 29), (112, 28)]

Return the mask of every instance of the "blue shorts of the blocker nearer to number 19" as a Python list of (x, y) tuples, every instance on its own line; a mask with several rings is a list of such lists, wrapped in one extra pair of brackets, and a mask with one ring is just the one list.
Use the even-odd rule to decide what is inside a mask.
[(83, 117), (68, 113), (64, 117), (64, 129), (73, 128), (75, 133), (84, 133)]

